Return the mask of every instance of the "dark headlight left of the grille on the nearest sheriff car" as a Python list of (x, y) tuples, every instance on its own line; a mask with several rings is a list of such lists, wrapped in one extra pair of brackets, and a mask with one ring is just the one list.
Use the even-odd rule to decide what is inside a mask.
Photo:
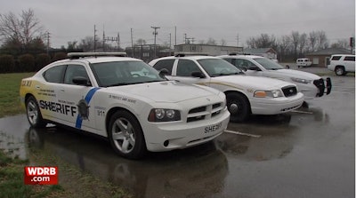
[(181, 113), (174, 109), (153, 108), (148, 120), (152, 123), (180, 121)]

